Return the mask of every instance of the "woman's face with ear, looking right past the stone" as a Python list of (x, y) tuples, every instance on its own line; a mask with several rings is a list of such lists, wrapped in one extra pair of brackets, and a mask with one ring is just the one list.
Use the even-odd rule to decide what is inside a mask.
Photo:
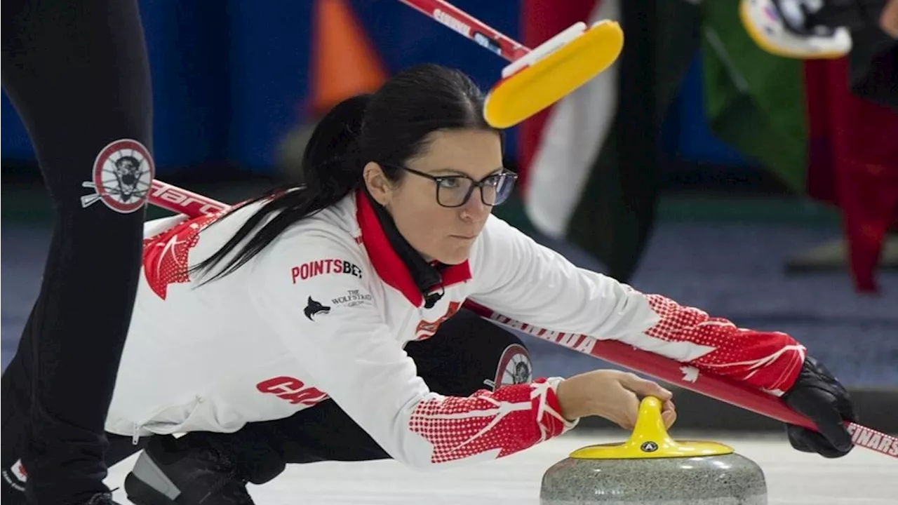
[(374, 199), (387, 208), (402, 236), (418, 253), (428, 261), (462, 263), (468, 259), (471, 244), (492, 208), (483, 203), (476, 188), (460, 207), (440, 205), (437, 186), (440, 200), (454, 205), (470, 181), (436, 182), (427, 175), (462, 175), (480, 182), (501, 172), (500, 138), (494, 131), (471, 129), (436, 131), (428, 140), (425, 151), (405, 164), (408, 170), (401, 173), (400, 182), (387, 181), (373, 163), (365, 167), (365, 181)]

